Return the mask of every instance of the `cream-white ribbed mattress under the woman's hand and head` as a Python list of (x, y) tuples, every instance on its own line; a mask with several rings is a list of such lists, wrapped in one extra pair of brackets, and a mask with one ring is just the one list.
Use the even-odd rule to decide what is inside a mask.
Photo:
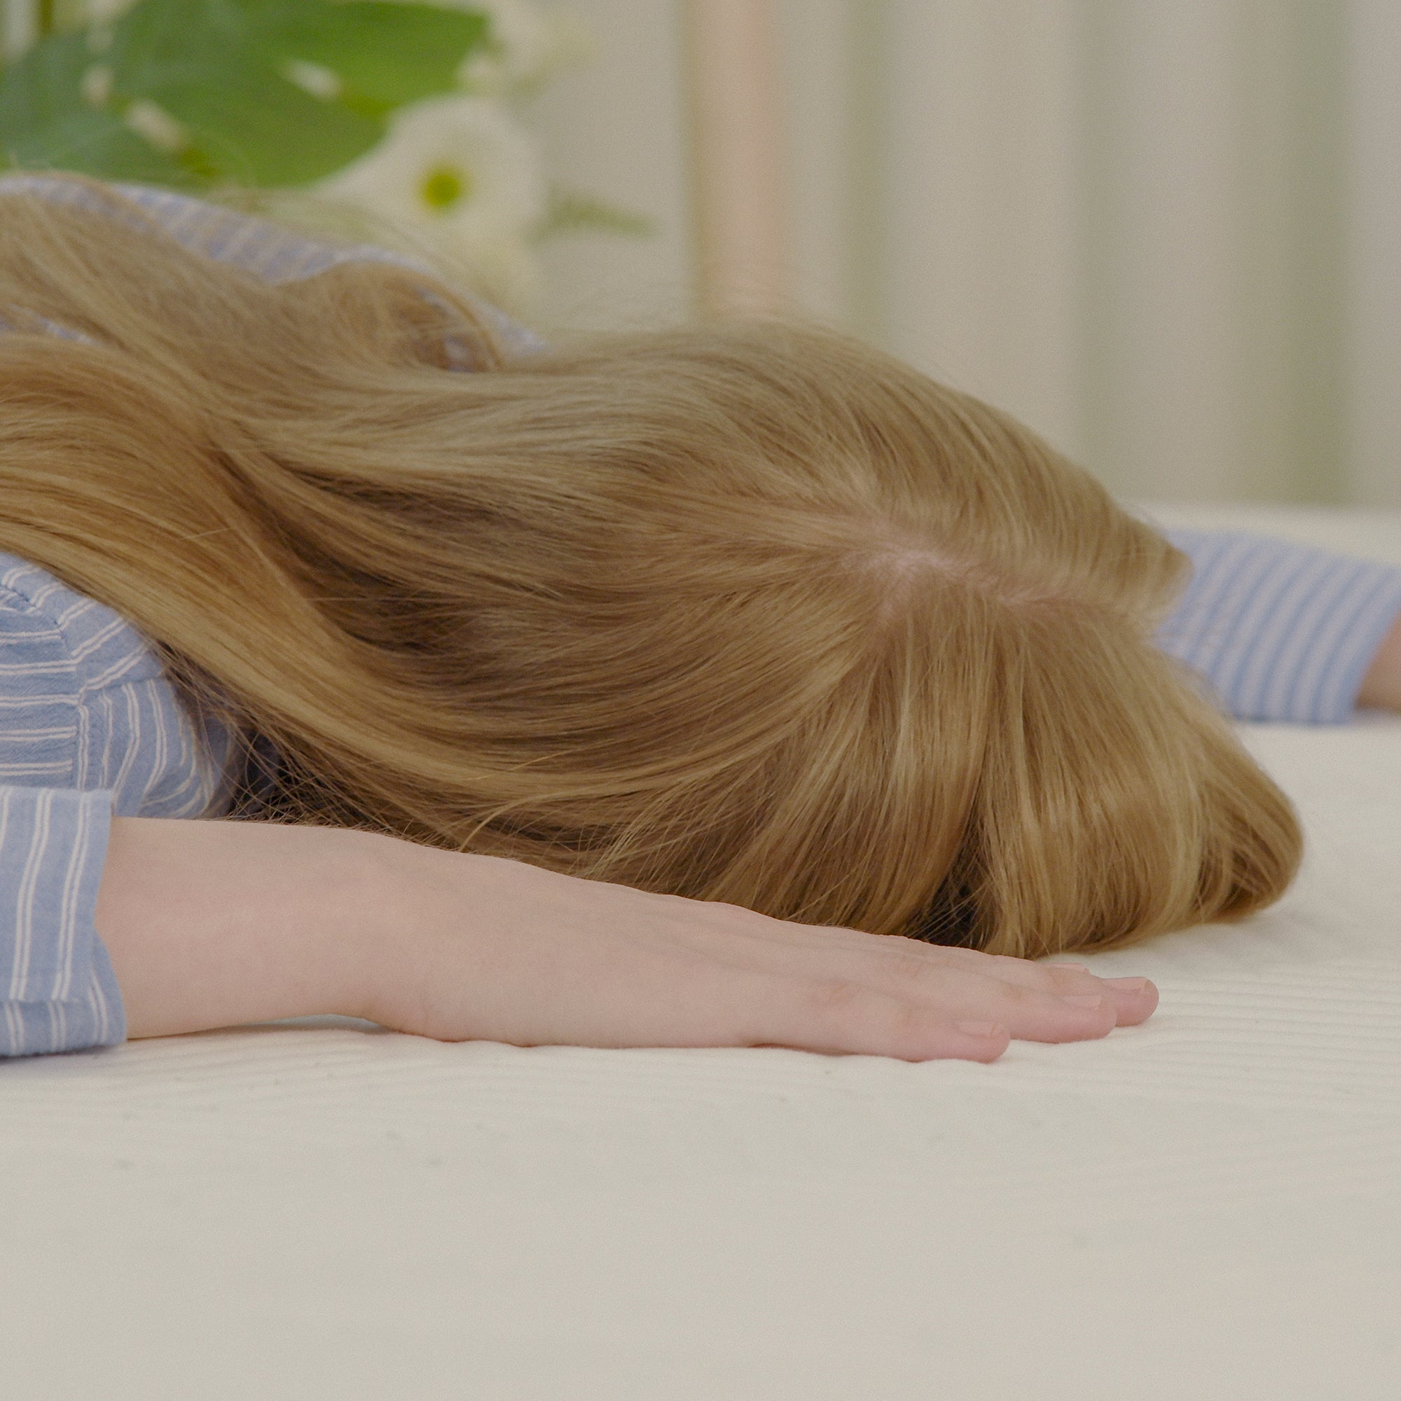
[[(1265, 523), (1401, 562), (1395, 518)], [(912, 1066), (322, 1019), (0, 1066), (0, 1391), (1394, 1401), (1401, 720), (1248, 743), (1304, 874), (1091, 958), (1161, 989), (1103, 1042)]]

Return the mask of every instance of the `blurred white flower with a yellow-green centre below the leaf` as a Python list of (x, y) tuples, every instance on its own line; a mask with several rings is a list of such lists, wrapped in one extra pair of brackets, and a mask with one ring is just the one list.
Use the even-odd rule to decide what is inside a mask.
[(535, 297), (530, 242), (545, 177), (534, 137), (497, 102), (453, 95), (401, 108), (378, 146), (314, 193), (398, 227), (509, 310)]

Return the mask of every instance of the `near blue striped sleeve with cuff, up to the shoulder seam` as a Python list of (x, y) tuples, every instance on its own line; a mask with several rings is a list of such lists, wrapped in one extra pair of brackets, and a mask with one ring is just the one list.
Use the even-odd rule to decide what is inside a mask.
[(95, 927), (113, 794), (77, 785), (80, 693), (63, 630), (0, 590), (0, 1055), (126, 1037)]

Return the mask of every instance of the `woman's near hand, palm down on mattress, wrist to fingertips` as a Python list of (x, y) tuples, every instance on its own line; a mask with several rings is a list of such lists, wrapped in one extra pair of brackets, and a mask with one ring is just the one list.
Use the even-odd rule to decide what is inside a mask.
[(1157, 1006), (1146, 979), (1082, 965), (786, 923), (489, 856), (385, 855), (413, 933), (385, 943), (361, 1014), (444, 1041), (995, 1061), (1012, 1037), (1103, 1037)]

